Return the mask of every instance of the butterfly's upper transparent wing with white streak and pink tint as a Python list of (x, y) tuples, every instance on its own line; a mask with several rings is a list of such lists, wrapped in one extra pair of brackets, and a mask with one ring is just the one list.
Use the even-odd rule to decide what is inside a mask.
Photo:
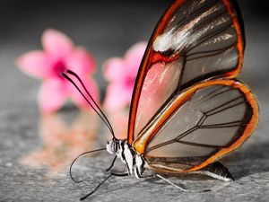
[(136, 79), (129, 144), (178, 92), (204, 79), (236, 76), (243, 44), (230, 1), (175, 1), (153, 32)]

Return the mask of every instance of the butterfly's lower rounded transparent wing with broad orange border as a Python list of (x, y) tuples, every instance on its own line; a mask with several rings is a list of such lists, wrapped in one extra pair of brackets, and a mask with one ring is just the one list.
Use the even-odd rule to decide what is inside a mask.
[(254, 95), (235, 80), (198, 83), (161, 111), (134, 142), (150, 166), (197, 170), (239, 147), (256, 127)]

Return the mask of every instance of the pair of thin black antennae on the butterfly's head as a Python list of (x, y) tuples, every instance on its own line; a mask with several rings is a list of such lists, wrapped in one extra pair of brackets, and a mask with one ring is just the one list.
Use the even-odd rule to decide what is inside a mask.
[(94, 101), (94, 99), (92, 98), (91, 93), (87, 90), (87, 88), (85, 87), (84, 83), (82, 83), (81, 78), (80, 78), (78, 75), (76, 75), (76, 74), (75, 74), (73, 71), (71, 71), (71, 70), (67, 70), (66, 73), (67, 73), (67, 74), (70, 74), (70, 75), (74, 75), (75, 78), (82, 84), (82, 87), (83, 87), (84, 91), (89, 95), (89, 97), (90, 97), (90, 99), (91, 99), (91, 101), (92, 101), (93, 104), (91, 103), (91, 101), (89, 101), (89, 100), (87, 99), (87, 97), (83, 94), (82, 90), (77, 86), (77, 84), (74, 83), (74, 81), (73, 81), (68, 75), (66, 75), (65, 73), (62, 73), (62, 75), (65, 77), (65, 79), (68, 80), (70, 83), (72, 83), (72, 84), (74, 85), (74, 87), (78, 90), (78, 92), (80, 92), (80, 93), (82, 94), (82, 97), (85, 99), (85, 101), (88, 102), (88, 104), (91, 106), (91, 109), (94, 110), (94, 111), (97, 113), (97, 115), (100, 117), (100, 119), (101, 119), (101, 120), (105, 123), (105, 125), (108, 127), (108, 129), (109, 129), (111, 135), (113, 136), (113, 138), (116, 139), (116, 137), (115, 137), (115, 133), (114, 133), (114, 130), (113, 130), (113, 127), (112, 127), (111, 124), (109, 123), (108, 118), (107, 118), (106, 115), (103, 113), (103, 111), (100, 110), (100, 107), (98, 106), (98, 104), (96, 103), (96, 101)]

